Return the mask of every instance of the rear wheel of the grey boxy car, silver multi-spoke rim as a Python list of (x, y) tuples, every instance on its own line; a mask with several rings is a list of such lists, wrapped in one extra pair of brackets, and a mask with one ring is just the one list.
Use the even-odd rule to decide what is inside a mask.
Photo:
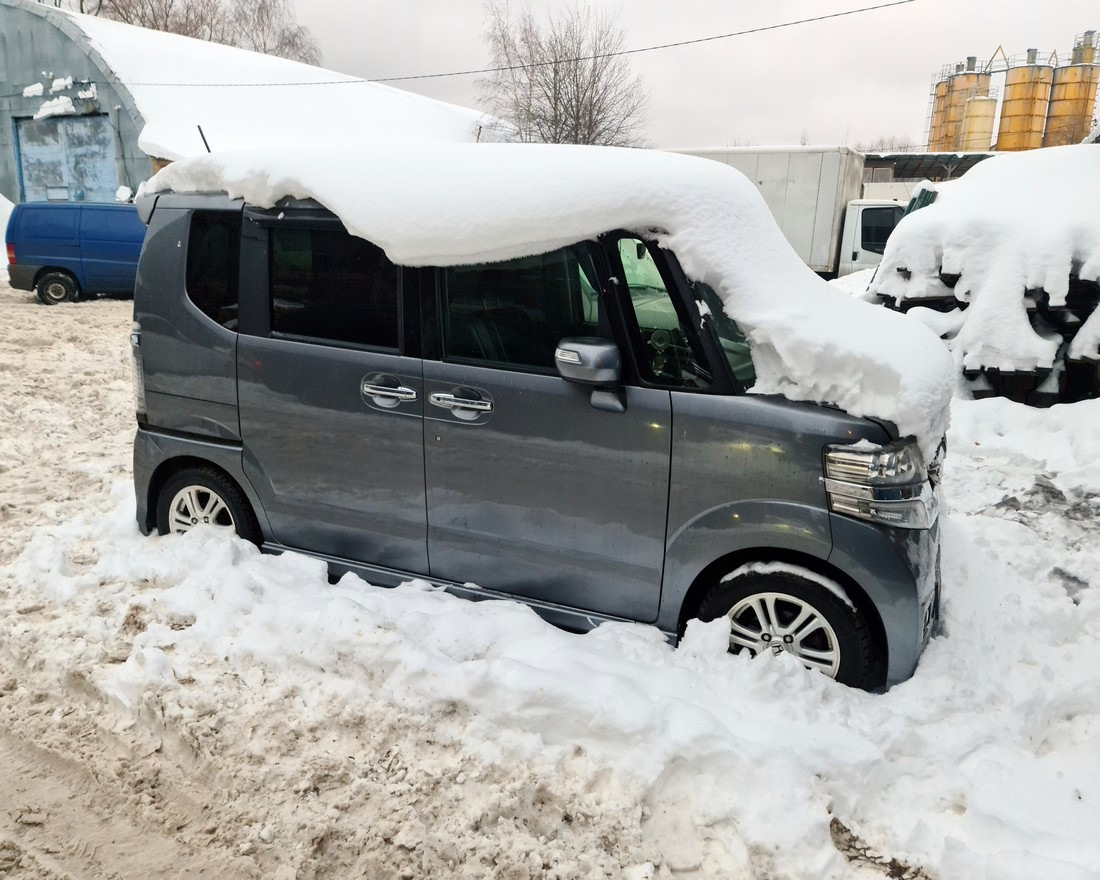
[(212, 468), (186, 468), (161, 488), (156, 528), (161, 535), (182, 535), (200, 525), (232, 529), (252, 543), (261, 541), (252, 507), (229, 477)]

